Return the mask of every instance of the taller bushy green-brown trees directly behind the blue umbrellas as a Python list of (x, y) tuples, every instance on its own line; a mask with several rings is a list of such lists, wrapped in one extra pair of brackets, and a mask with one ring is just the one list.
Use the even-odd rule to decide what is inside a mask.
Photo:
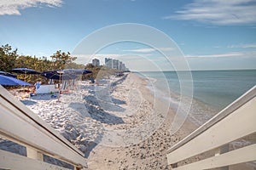
[[(84, 68), (84, 65), (78, 65), (74, 62), (77, 58), (72, 57), (69, 52), (66, 54), (59, 50), (50, 56), (50, 58), (51, 59), (47, 59), (46, 57), (38, 58), (36, 56), (19, 55), (17, 54), (17, 49), (12, 50), (9, 44), (2, 45), (0, 48), (0, 71), (11, 71), (12, 69), (19, 67), (26, 67), (40, 72), (67, 68)], [(26, 82), (46, 81), (46, 78), (39, 75), (19, 74), (18, 78), (26, 80)]]

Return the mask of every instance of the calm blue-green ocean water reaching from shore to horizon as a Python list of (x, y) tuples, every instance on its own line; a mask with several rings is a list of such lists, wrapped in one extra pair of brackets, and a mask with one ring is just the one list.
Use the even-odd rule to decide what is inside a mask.
[[(186, 74), (181, 71), (178, 75)], [(183, 96), (192, 99), (189, 119), (198, 125), (207, 122), (212, 116), (223, 110), (227, 105), (239, 98), (247, 90), (256, 85), (256, 70), (236, 71), (191, 71), (192, 83), (189, 78), (177, 77), (176, 71), (140, 72), (140, 76), (148, 79), (148, 88), (155, 97), (165, 100), (174, 110), (180, 102), (180, 81), (183, 85)], [(190, 82), (191, 86), (187, 86)], [(189, 88), (193, 96), (189, 95)]]

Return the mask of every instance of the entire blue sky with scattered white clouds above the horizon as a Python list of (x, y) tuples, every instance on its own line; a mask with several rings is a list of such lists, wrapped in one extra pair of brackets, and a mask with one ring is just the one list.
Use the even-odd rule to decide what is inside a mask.
[(190, 70), (256, 69), (255, 8), (256, 0), (0, 0), (0, 44), (37, 57), (69, 51), (81, 64), (117, 58), (133, 71), (180, 62)]

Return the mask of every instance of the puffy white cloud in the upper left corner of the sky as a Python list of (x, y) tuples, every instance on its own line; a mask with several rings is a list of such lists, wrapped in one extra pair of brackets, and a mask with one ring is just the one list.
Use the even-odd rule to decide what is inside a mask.
[(47, 7), (60, 7), (61, 0), (1, 0), (0, 15), (16, 14), (20, 15), (20, 9), (38, 7), (46, 5)]

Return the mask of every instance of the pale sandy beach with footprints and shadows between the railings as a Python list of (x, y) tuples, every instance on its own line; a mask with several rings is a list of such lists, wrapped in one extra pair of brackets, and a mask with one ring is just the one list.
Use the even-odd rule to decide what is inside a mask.
[[(173, 133), (175, 108), (166, 105), (148, 87), (148, 80), (136, 73), (110, 77), (98, 85), (79, 81), (60, 99), (58, 94), (27, 98), (17, 90), (10, 93), (79, 148), (90, 169), (171, 169), (166, 151), (199, 126), (186, 119)], [(19, 144), (0, 142), (1, 149), (26, 155)]]

